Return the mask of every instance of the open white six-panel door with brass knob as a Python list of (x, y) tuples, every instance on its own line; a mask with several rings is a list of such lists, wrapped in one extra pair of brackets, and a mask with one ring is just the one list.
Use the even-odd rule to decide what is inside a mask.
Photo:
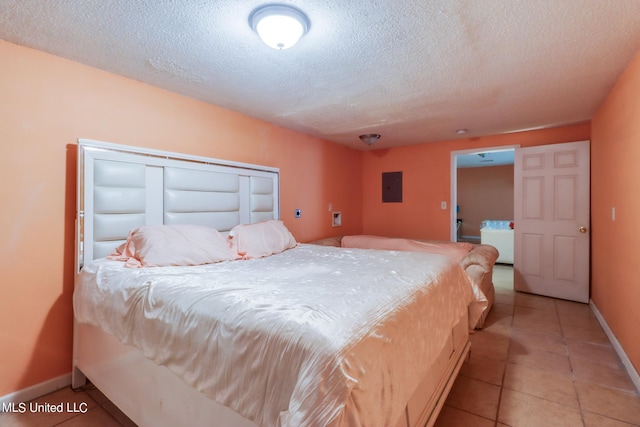
[(514, 287), (589, 302), (589, 141), (516, 149)]

